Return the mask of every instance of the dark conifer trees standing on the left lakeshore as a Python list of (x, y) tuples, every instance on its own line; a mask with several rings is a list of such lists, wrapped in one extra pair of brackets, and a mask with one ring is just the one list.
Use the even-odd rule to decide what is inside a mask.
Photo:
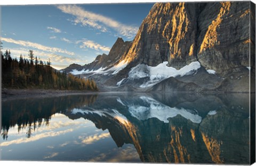
[(2, 88), (98, 91), (93, 80), (59, 72), (51, 67), (50, 59), (45, 63), (32, 50), (28, 57), (20, 55), (18, 60), (11, 58), (10, 50), (2, 53)]

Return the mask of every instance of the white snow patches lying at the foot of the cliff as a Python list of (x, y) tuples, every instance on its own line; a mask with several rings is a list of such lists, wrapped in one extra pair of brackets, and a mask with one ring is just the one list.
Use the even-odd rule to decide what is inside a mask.
[[(123, 68), (127, 66), (128, 62), (125, 60), (122, 60), (115, 66), (108, 68), (99, 68), (97, 70), (91, 70), (88, 69), (85, 71), (85, 69), (82, 69), (82, 71), (77, 71), (76, 69), (73, 69), (72, 74), (103, 74), (103, 75), (115, 75), (119, 71), (121, 71)], [(146, 78), (148, 77), (149, 81), (144, 82), (140, 85), (140, 88), (150, 88), (151, 86), (165, 80), (169, 77), (177, 77), (177, 76), (185, 76), (185, 75), (192, 75), (197, 72), (197, 69), (201, 67), (199, 62), (192, 62), (189, 65), (186, 65), (180, 69), (175, 69), (174, 67), (168, 67), (168, 62), (163, 62), (162, 64), (159, 64), (157, 66), (148, 66), (145, 64), (139, 64), (133, 68), (131, 68), (130, 72), (128, 73), (127, 78), (123, 78), (122, 80), (119, 80), (116, 85), (120, 86), (122, 85), (124, 80), (138, 80), (140, 78)], [(215, 74), (215, 71), (213, 70), (207, 70), (210, 74)]]

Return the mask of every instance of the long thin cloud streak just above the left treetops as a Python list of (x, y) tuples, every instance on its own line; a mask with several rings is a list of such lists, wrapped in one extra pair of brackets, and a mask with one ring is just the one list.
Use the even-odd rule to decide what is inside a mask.
[(14, 40), (11, 38), (1, 38), (1, 40), (5, 41), (5, 42), (15, 43), (20, 46), (36, 48), (36, 49), (47, 51), (50, 53), (64, 53), (64, 54), (68, 54), (68, 55), (75, 55), (75, 53), (67, 51), (67, 50), (63, 50), (63, 49), (55, 48), (55, 47), (47, 47), (47, 46), (43, 46), (41, 44), (30, 42), (30, 41)]

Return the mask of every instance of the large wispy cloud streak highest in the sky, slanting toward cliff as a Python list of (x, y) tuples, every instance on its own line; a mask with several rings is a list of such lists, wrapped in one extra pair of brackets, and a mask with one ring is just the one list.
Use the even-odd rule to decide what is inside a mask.
[(106, 32), (106, 27), (108, 27), (113, 28), (122, 36), (125, 36), (127, 38), (133, 38), (139, 29), (138, 27), (125, 25), (106, 16), (86, 11), (82, 7), (79, 7), (77, 5), (58, 5), (57, 7), (63, 13), (68, 13), (76, 16), (75, 20), (73, 20), (75, 24), (80, 23), (83, 26), (90, 26), (95, 29), (99, 29), (102, 32)]

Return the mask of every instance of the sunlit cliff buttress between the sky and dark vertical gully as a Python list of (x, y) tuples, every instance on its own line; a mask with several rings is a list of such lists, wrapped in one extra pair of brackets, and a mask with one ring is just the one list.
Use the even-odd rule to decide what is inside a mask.
[(125, 58), (149, 66), (168, 60), (168, 65), (175, 68), (196, 61), (196, 6), (196, 3), (156, 3)]

